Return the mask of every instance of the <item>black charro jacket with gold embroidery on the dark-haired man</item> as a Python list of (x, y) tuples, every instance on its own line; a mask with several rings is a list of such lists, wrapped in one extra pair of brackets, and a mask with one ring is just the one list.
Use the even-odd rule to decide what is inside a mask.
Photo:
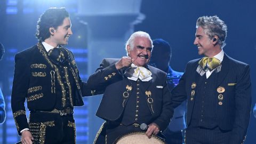
[[(84, 96), (96, 94), (87, 87), (87, 83), (82, 82), (79, 77), (74, 55), (68, 52), (68, 65), (71, 71), (73, 81), (75, 81), (75, 90), (71, 105), (83, 106)], [(53, 109), (56, 101), (55, 86), (59, 85), (63, 90), (63, 83), (60, 78), (59, 69), (47, 56), (47, 52), (39, 42), (37, 45), (30, 47), (15, 55), (15, 70), (13, 78), (13, 87), (11, 95), (11, 106), (13, 117), (19, 135), (20, 131), (28, 128), (26, 118), (25, 100), (30, 110), (49, 110)], [(63, 94), (65, 92), (61, 92)], [(68, 95), (66, 95), (68, 97)], [(65, 105), (65, 104), (63, 104)]]

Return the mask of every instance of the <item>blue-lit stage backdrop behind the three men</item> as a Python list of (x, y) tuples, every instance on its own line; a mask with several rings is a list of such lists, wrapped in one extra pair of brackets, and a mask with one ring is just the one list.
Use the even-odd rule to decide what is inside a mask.
[[(171, 66), (183, 71), (189, 60), (200, 58), (193, 45), (195, 25), (202, 15), (218, 15), (228, 26), (224, 51), (251, 66), (252, 108), (256, 102), (256, 1), (189, 0), (0, 0), (0, 43), (5, 55), (0, 61), (0, 87), (7, 117), (0, 125), (0, 143), (14, 143), (16, 132), (10, 106), (14, 55), (37, 43), (36, 22), (48, 7), (66, 7), (73, 36), (66, 46), (74, 52), (83, 81), (99, 66), (102, 58), (121, 58), (124, 43), (133, 31), (146, 31), (152, 39), (163, 38), (173, 49)], [(101, 123), (95, 117), (101, 96), (84, 98), (75, 108), (77, 143), (92, 143)], [(256, 143), (256, 118), (251, 121), (245, 143)]]

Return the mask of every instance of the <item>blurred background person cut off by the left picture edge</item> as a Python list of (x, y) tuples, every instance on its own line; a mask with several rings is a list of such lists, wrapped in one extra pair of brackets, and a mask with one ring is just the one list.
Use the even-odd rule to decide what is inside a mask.
[[(0, 43), (0, 60), (2, 60), (4, 55), (4, 46)], [(5, 102), (4, 95), (0, 88), (0, 123), (3, 123), (5, 120)]]

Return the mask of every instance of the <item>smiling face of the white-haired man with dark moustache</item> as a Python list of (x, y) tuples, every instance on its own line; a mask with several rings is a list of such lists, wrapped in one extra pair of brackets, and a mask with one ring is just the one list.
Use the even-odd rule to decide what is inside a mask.
[(135, 37), (133, 47), (127, 45), (126, 49), (129, 57), (134, 59), (133, 64), (136, 66), (146, 66), (151, 57), (151, 41), (146, 37)]

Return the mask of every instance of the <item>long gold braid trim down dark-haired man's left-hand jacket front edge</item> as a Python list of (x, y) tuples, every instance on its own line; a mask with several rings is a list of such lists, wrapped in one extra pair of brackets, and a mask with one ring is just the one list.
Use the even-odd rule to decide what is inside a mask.
[(53, 63), (47, 57), (46, 51), (44, 50), (44, 47), (43, 47), (43, 45), (40, 42), (37, 43), (37, 47), (38, 47), (39, 51), (43, 54), (43, 56), (46, 59), (46, 61), (51, 65), (52, 68), (55, 69), (55, 72), (57, 73), (57, 80), (58, 80), (58, 82), (60, 84), (60, 87), (61, 87), (62, 107), (65, 107), (65, 105), (66, 105), (66, 90), (65, 90), (64, 84), (61, 81), (61, 76), (60, 76), (59, 69), (57, 68), (56, 65), (53, 65)]

